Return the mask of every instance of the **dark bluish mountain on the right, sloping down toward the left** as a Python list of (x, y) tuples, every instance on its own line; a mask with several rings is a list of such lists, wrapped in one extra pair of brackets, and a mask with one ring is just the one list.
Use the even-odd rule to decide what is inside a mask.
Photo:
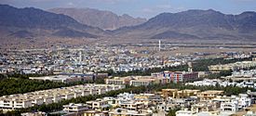
[(256, 39), (256, 13), (226, 15), (212, 9), (162, 13), (114, 33), (152, 39)]

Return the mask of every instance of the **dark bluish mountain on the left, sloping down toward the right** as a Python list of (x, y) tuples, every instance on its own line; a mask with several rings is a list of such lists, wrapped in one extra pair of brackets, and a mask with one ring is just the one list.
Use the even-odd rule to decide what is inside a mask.
[(81, 24), (68, 16), (34, 7), (16, 8), (0, 5), (0, 18), (1, 37), (63, 37), (64, 35), (90, 38), (106, 33), (100, 28)]

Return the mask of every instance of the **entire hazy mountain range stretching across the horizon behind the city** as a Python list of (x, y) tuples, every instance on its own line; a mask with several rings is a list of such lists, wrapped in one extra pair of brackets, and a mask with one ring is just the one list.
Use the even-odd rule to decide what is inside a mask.
[[(79, 18), (82, 20), (73, 19), (73, 16), (68, 15), (70, 13), (63, 13), (65, 14), (63, 15), (57, 9), (61, 9), (60, 12), (71, 12), (71, 14), (75, 14), (74, 16), (80, 15), (81, 17)], [(89, 8), (77, 10), (73, 8), (57, 9), (45, 11), (34, 7), (16, 8), (0, 5), (1, 37), (118, 37), (124, 39), (182, 40), (256, 39), (256, 12), (252, 11), (243, 12), (239, 15), (227, 15), (212, 9), (193, 9), (179, 13), (162, 13), (147, 21), (139, 19), (142, 21), (135, 25), (135, 23), (131, 24), (129, 22), (135, 22), (136, 19), (128, 15), (117, 16), (112, 12)], [(90, 11), (90, 13), (85, 15), (87, 11)], [(83, 19), (86, 22), (83, 22)], [(127, 19), (128, 21), (123, 21), (123, 25), (117, 24), (120, 23), (120, 19)], [(92, 23), (93, 21), (95, 23)], [(105, 31), (106, 29), (115, 28), (118, 29)]]

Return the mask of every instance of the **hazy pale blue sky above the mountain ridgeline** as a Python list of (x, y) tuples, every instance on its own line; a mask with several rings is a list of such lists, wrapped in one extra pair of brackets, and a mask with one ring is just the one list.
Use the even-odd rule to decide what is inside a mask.
[(256, 0), (0, 0), (0, 4), (17, 7), (91, 7), (110, 10), (118, 15), (152, 18), (162, 12), (187, 9), (215, 9), (227, 14), (256, 11)]

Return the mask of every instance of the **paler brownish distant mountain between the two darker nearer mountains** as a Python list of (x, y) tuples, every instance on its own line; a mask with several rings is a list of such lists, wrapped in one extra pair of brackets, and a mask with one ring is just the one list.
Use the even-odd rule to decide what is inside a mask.
[(47, 11), (67, 15), (80, 23), (99, 27), (103, 30), (115, 30), (125, 26), (138, 25), (146, 21), (146, 19), (132, 18), (128, 14), (118, 16), (111, 11), (95, 8), (52, 8)]

